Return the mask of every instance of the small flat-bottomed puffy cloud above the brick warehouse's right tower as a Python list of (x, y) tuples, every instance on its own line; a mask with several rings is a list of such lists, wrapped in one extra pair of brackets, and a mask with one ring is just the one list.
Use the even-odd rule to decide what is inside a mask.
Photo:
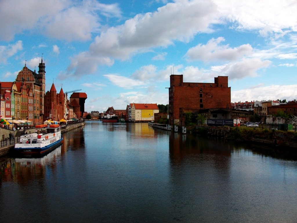
[(212, 38), (205, 45), (198, 44), (188, 50), (187, 56), (191, 60), (208, 61), (234, 61), (252, 53), (252, 47), (249, 44), (244, 44), (239, 47), (230, 48), (229, 45), (220, 45), (225, 41), (225, 38)]

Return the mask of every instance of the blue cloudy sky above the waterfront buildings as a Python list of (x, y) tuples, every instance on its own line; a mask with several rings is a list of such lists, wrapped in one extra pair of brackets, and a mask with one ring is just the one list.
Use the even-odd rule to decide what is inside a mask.
[(171, 74), (228, 76), (232, 102), (294, 100), (296, 11), (296, 0), (0, 0), (0, 81), (42, 57), (46, 91), (81, 89), (86, 112), (168, 104)]

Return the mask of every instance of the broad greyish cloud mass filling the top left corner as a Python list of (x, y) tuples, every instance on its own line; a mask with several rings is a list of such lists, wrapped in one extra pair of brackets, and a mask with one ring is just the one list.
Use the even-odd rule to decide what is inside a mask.
[[(46, 9), (46, 10), (41, 10)], [(34, 13), (28, 13), (34, 12)], [(97, 13), (99, 12), (99, 13)], [(11, 40), (24, 31), (40, 31), (57, 39), (89, 40), (100, 27), (100, 17), (120, 17), (117, 4), (96, 0), (0, 1), (0, 40)]]

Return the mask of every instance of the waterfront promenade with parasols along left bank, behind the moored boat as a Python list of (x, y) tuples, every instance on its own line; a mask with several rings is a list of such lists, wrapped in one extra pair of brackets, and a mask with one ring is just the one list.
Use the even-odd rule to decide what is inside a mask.
[[(85, 125), (85, 121), (73, 121), (72, 123), (69, 123), (67, 125), (61, 125), (62, 134), (70, 131), (75, 128), (79, 128), (81, 126)], [(22, 134), (26, 133), (34, 133), (35, 132), (34, 126), (25, 126), (23, 129), (19, 129), (16, 131), (13, 131), (9, 128), (1, 128), (0, 134), (3, 136), (1, 140), (1, 147), (0, 147), (0, 157), (6, 156), (10, 153), (10, 150), (12, 150), (15, 147), (15, 143), (18, 143), (20, 140), (20, 136)], [(10, 133), (13, 133), (13, 136), (10, 137)]]

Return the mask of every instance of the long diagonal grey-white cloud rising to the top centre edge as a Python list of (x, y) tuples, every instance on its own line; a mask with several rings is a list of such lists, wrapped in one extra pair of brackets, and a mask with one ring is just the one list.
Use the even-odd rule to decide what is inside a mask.
[[(175, 40), (188, 42), (198, 32), (211, 32), (209, 26), (215, 22), (216, 13), (216, 6), (211, 1), (168, 3), (156, 12), (138, 14), (123, 25), (101, 32), (85, 55), (127, 60), (151, 48), (172, 45)], [(80, 64), (83, 63), (76, 60), (69, 67)]]

